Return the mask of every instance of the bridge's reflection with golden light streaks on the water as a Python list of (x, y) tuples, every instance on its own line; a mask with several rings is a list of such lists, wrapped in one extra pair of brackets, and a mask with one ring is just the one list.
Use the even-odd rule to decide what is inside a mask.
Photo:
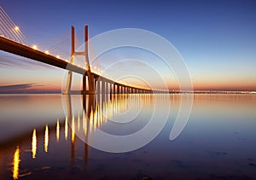
[[(155, 96), (158, 96), (155, 98)], [(67, 116), (65, 119), (56, 119), (52, 125), (45, 125), (44, 132), (40, 129), (34, 129), (31, 136), (31, 157), (32, 160), (37, 159), (39, 144), (44, 142), (44, 155), (50, 151), (51, 143), (67, 142), (70, 137), (71, 142), (71, 167), (75, 167), (75, 143), (76, 133), (84, 133), (84, 137), (93, 136), (97, 128), (102, 128), (108, 124), (108, 121), (119, 119), (120, 114), (124, 114), (131, 110), (132, 107), (152, 107), (155, 101), (168, 102), (169, 95), (153, 95), (153, 94), (124, 94), (124, 95), (62, 95), (62, 102), (66, 103)], [(82, 105), (82, 106), (79, 106)], [(64, 105), (64, 104), (63, 104)], [(65, 107), (65, 106), (64, 106)], [(132, 119), (131, 119), (132, 120)], [(62, 135), (62, 136), (61, 136)], [(51, 137), (51, 138), (50, 138)], [(55, 138), (52, 138), (55, 137)], [(39, 141), (38, 139), (43, 139)], [(54, 142), (50, 142), (54, 141)], [(89, 157), (90, 146), (84, 143), (84, 162), (86, 163)], [(26, 150), (27, 152), (28, 150)], [(39, 150), (40, 151), (40, 150)], [(42, 154), (40, 154), (42, 155)], [(20, 174), (20, 148), (17, 147), (13, 159), (13, 177), (28, 176), (32, 171), (22, 171)], [(48, 167), (44, 167), (48, 168)]]

